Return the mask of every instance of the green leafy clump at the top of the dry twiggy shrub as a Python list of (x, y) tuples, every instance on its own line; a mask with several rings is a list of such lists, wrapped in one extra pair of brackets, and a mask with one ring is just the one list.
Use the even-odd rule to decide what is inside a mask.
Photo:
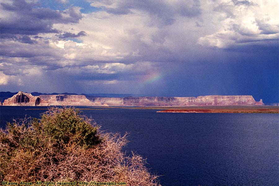
[(100, 139), (96, 135), (97, 128), (92, 127), (88, 119), (80, 117), (78, 109), (67, 108), (43, 114), (38, 125), (38, 131), (44, 129), (44, 134), (63, 146), (74, 143), (90, 148), (99, 144)]

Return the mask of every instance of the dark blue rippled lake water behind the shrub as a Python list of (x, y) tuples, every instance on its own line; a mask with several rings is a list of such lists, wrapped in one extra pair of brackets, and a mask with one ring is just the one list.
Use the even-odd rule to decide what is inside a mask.
[[(0, 107), (1, 127), (46, 107)], [(85, 107), (80, 107), (85, 108)], [(88, 108), (88, 107), (87, 107)], [(169, 185), (279, 185), (278, 114), (156, 113), (149, 109), (83, 110), (108, 132), (129, 132), (123, 149), (147, 158)]]

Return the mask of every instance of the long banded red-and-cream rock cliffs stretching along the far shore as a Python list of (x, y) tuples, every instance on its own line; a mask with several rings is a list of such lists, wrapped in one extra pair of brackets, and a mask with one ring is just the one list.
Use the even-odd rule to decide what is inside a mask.
[(124, 97), (107, 98), (86, 95), (40, 95), (19, 92), (4, 101), (3, 105), (72, 105), (72, 106), (228, 106), (264, 105), (251, 95), (206, 95), (196, 97)]

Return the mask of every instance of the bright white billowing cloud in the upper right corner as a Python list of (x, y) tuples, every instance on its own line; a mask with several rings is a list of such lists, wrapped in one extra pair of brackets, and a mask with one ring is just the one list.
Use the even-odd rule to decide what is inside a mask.
[[(277, 40), (279, 32), (278, 1), (216, 1), (216, 17), (211, 20), (218, 30), (202, 36), (198, 44), (229, 48), (250, 45), (250, 42)], [(277, 7), (277, 8), (276, 8)], [(212, 14), (211, 14), (212, 15)], [(216, 20), (217, 18), (217, 20)]]

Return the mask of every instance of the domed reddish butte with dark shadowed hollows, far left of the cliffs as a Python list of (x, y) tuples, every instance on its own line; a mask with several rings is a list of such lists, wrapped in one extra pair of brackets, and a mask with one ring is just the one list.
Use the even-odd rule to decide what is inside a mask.
[(16, 95), (4, 101), (3, 105), (8, 106), (48, 106), (45, 100), (41, 100), (39, 96), (19, 91)]

